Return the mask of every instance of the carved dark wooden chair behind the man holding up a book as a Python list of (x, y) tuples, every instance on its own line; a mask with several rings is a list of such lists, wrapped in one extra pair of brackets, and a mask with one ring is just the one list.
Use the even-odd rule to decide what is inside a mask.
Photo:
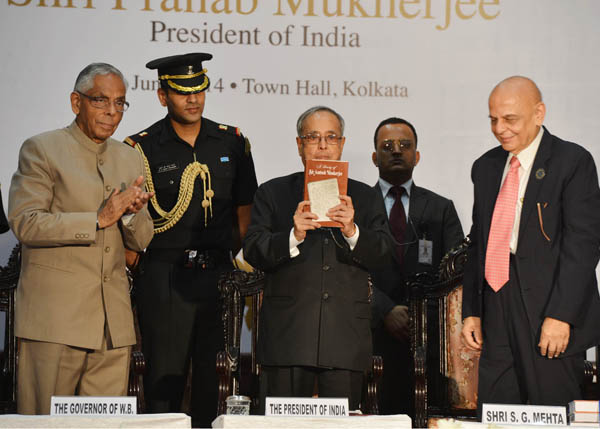
[[(223, 334), (225, 350), (217, 354), (217, 374), (219, 374), (219, 403), (218, 414), (225, 414), (225, 400), (229, 395), (247, 395), (252, 400), (251, 412), (258, 409), (260, 365), (256, 361), (256, 344), (258, 341), (258, 326), (262, 290), (265, 275), (260, 271), (247, 273), (234, 270), (225, 273), (219, 281), (219, 290), (223, 299)], [(250, 298), (252, 314), (250, 356), (240, 353), (240, 339), (243, 322), (245, 299)], [(248, 373), (243, 371), (243, 363), (249, 361)], [(383, 374), (383, 360), (373, 356), (372, 368), (365, 374), (363, 383), (363, 413), (378, 414), (377, 386)], [(241, 386), (246, 381), (247, 385)]]

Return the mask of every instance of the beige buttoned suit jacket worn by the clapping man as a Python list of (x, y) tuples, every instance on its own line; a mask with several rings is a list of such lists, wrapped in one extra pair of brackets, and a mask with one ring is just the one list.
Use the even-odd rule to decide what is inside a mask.
[(114, 189), (142, 174), (135, 149), (97, 144), (75, 122), (23, 143), (8, 203), (23, 246), (18, 337), (98, 350), (107, 326), (114, 347), (135, 343), (124, 247), (143, 250), (152, 220), (144, 208), (96, 231), (96, 219)]

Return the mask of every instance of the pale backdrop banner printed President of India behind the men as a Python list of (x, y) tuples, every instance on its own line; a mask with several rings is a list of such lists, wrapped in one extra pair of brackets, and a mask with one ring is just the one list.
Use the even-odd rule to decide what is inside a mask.
[(471, 164), (497, 144), (487, 98), (515, 74), (538, 83), (552, 133), (600, 155), (597, 0), (1, 0), (0, 16), (5, 204), (21, 143), (71, 122), (85, 65), (129, 81), (123, 139), (166, 113), (146, 62), (194, 51), (214, 55), (205, 116), (250, 139), (259, 183), (302, 169), (296, 119), (324, 104), (346, 119), (350, 177), (374, 184), (373, 132), (399, 116), (419, 136), (415, 182), (468, 231)]

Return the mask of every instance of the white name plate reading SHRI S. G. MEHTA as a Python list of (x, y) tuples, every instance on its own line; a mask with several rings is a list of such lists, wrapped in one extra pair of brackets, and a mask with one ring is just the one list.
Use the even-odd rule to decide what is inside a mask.
[(504, 425), (551, 425), (567, 424), (565, 407), (548, 405), (483, 404), (482, 423)]

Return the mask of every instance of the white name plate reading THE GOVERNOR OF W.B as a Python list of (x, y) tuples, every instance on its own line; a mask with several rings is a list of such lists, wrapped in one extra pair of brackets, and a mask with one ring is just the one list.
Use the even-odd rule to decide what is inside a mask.
[(137, 414), (135, 396), (53, 396), (51, 416), (130, 416)]

